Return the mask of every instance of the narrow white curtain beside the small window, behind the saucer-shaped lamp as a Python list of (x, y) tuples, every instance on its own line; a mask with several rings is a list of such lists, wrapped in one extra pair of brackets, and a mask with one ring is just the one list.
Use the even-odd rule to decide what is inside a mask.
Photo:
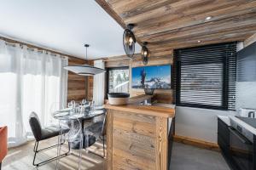
[[(105, 69), (105, 64), (102, 59), (94, 61), (94, 66)], [(97, 74), (93, 77), (93, 100), (95, 105), (104, 104), (104, 95), (105, 95), (105, 73)]]

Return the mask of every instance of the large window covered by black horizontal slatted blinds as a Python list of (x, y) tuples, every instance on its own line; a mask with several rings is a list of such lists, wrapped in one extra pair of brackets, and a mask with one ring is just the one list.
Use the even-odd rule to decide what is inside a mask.
[(175, 50), (176, 104), (219, 110), (236, 107), (236, 42)]

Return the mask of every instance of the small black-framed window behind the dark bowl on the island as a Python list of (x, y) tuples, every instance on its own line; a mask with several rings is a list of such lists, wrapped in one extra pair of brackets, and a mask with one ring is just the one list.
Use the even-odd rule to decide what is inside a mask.
[(129, 67), (108, 69), (107, 93), (129, 93)]

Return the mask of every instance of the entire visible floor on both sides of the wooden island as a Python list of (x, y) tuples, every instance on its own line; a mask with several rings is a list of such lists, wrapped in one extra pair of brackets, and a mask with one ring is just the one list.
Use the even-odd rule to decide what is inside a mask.
[[(44, 142), (47, 144), (49, 141)], [(55, 161), (52, 161), (42, 167), (32, 166), (32, 147), (33, 142), (9, 150), (9, 156), (3, 161), (3, 170), (54, 170)], [(90, 148), (98, 154), (102, 154), (102, 144), (95, 144)], [(39, 160), (49, 156), (54, 156), (55, 150), (46, 151), (38, 155)], [(94, 154), (83, 153), (82, 169), (103, 170), (106, 168), (105, 161)], [(61, 159), (61, 170), (77, 169), (77, 156), (67, 156)], [(204, 150), (194, 146), (174, 143), (172, 150), (172, 170), (230, 170), (224, 158), (217, 151)]]

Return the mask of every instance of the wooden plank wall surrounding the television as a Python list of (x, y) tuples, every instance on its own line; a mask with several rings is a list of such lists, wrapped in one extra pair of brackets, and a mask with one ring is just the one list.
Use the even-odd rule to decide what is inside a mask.
[[(150, 54), (148, 65), (172, 65), (173, 57), (172, 50), (158, 52)], [(131, 82), (131, 68), (143, 66), (142, 59), (140, 54), (135, 54), (134, 59), (128, 59), (125, 55), (116, 56), (112, 58), (105, 59), (105, 66), (107, 68), (119, 67), (119, 66), (129, 66), (130, 67), (130, 82)], [(131, 96), (137, 96), (144, 94), (143, 89), (131, 88), (130, 83), (130, 94)], [(157, 100), (160, 103), (172, 104), (173, 102), (173, 91), (172, 89), (157, 89), (154, 91), (154, 100)]]

